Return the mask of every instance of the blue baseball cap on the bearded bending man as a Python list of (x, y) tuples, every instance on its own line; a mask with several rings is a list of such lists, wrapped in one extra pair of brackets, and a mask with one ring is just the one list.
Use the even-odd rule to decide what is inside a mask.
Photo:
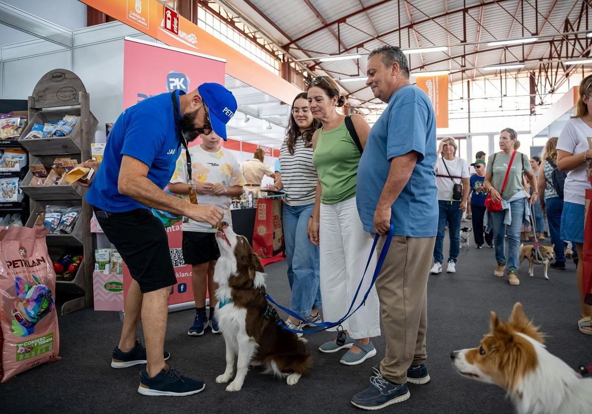
[(236, 98), (220, 83), (202, 83), (197, 87), (197, 91), (208, 107), (212, 129), (226, 141), (226, 124), (236, 112)]

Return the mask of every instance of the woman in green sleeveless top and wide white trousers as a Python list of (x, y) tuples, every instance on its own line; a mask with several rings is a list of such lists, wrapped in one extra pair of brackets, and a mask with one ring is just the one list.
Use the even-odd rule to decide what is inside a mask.
[[(308, 102), (315, 119), (323, 125), (313, 135), (313, 164), (318, 183), (313, 215), (308, 221), (310, 240), (320, 246), (320, 287), (325, 321), (342, 318), (352, 303), (372, 248), (372, 235), (365, 232), (356, 206), (356, 179), (361, 150), (336, 111), (345, 104), (339, 87), (328, 76), (311, 80)], [(363, 148), (370, 131), (360, 115), (350, 118)], [(374, 260), (375, 263), (375, 260)], [(369, 269), (374, 269), (370, 265)], [(362, 291), (368, 285), (362, 287)], [(358, 297), (358, 302), (361, 300)], [(357, 306), (355, 303), (354, 306)], [(362, 306), (343, 324), (348, 337), (344, 345), (329, 341), (319, 348), (336, 352), (350, 348), (340, 362), (360, 364), (376, 355), (371, 337), (380, 335), (379, 303), (375, 288)]]

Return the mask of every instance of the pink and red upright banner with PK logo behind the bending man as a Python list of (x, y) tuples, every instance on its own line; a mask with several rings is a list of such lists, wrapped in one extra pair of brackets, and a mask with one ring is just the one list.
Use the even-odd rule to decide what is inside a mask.
[[(137, 40), (125, 40), (123, 57), (123, 107), (163, 92), (181, 89), (191, 92), (201, 83), (217, 82), (224, 85), (223, 59), (171, 50), (171, 48)], [(185, 264), (182, 254), (181, 217), (154, 210), (166, 228), (170, 257), (175, 267), (177, 283), (171, 288), (169, 305), (192, 302), (191, 266)], [(131, 276), (124, 267), (124, 297)]]

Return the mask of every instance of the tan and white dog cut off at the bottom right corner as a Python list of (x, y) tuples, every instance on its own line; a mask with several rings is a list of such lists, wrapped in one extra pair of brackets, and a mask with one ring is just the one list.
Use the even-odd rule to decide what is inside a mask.
[(592, 412), (592, 378), (582, 378), (543, 345), (520, 302), (508, 322), (491, 312), (491, 331), (477, 348), (453, 351), (459, 374), (507, 391), (519, 414)]

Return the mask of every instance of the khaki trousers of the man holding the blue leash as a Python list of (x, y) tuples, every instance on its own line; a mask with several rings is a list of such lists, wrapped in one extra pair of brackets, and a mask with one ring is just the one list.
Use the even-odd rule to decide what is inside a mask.
[[(379, 238), (378, 254), (385, 240)], [(393, 237), (376, 281), (387, 338), (380, 371), (393, 383), (406, 383), (407, 369), (426, 361), (427, 277), (435, 242), (435, 237)]]

